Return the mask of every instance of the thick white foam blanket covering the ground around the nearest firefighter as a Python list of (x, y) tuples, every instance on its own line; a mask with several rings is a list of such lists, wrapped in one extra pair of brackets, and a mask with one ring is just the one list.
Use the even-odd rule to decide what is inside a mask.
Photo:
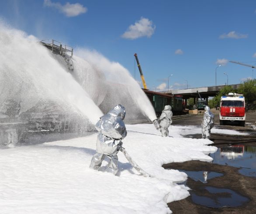
[[(2, 213), (171, 213), (168, 202), (189, 196), (187, 179), (163, 164), (211, 161), (204, 139), (183, 138), (181, 126), (163, 138), (152, 124), (127, 125), (124, 147), (153, 177), (143, 177), (119, 152), (119, 176), (89, 169), (97, 134), (0, 150)], [(107, 162), (104, 161), (104, 165)]]

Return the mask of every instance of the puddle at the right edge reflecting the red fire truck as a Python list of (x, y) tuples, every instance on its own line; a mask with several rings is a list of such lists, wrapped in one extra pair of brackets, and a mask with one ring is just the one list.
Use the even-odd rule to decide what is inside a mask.
[(210, 154), (212, 163), (234, 166), (245, 176), (256, 177), (256, 146), (230, 145)]

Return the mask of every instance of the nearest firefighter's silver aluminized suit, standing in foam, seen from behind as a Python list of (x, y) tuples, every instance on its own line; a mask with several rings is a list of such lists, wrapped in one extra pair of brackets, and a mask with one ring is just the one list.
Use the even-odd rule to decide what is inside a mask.
[(117, 153), (122, 147), (121, 140), (127, 135), (125, 128), (125, 107), (118, 104), (107, 114), (100, 117), (96, 124), (99, 131), (97, 137), (97, 153), (93, 155), (90, 168), (99, 169), (105, 157), (109, 160), (107, 169), (114, 175), (118, 172)]

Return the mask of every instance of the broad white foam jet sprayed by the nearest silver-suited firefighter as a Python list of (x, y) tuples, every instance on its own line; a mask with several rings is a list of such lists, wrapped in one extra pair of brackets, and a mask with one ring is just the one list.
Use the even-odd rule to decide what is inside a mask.
[(101, 110), (34, 36), (0, 23), (0, 104), (16, 100), (24, 112), (42, 99), (67, 103), (93, 124)]

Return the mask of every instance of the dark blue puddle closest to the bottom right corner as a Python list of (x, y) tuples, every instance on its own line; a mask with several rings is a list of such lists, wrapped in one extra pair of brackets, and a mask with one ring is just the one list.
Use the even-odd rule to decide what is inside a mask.
[(195, 204), (200, 204), (205, 207), (239, 207), (242, 204), (249, 201), (247, 197), (244, 197), (234, 190), (225, 189), (225, 188), (216, 188), (213, 186), (204, 187), (208, 193), (211, 193), (211, 197), (199, 196), (193, 191), (190, 192), (192, 201)]

